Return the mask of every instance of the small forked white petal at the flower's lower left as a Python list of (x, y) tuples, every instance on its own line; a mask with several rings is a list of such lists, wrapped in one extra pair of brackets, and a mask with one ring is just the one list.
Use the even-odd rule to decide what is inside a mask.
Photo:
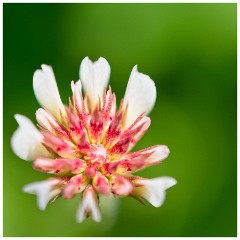
[(23, 187), (23, 191), (37, 196), (37, 204), (40, 210), (45, 210), (48, 202), (58, 195), (60, 189), (52, 189), (58, 183), (57, 179), (48, 179), (45, 181), (30, 183)]

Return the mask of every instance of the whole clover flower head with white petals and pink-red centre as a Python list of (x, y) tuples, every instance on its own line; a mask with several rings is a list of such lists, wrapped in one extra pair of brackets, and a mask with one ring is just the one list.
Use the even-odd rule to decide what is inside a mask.
[(110, 87), (106, 90), (109, 77), (106, 59), (92, 62), (86, 57), (80, 65), (80, 80), (71, 82), (72, 98), (64, 105), (52, 68), (42, 65), (34, 73), (33, 89), (42, 106), (36, 111), (38, 128), (16, 114), (19, 127), (11, 145), (18, 157), (33, 161), (35, 170), (53, 175), (23, 188), (37, 195), (41, 210), (50, 200), (71, 199), (81, 193), (77, 221), (91, 216), (99, 222), (101, 195), (132, 195), (159, 207), (166, 189), (176, 184), (171, 177), (144, 179), (133, 175), (169, 155), (165, 145), (129, 153), (150, 126), (146, 115), (156, 100), (154, 82), (135, 66), (117, 109), (115, 94)]

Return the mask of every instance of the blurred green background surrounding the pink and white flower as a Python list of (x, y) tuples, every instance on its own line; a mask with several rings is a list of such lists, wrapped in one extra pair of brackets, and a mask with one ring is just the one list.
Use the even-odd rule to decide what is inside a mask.
[[(4, 236), (236, 236), (236, 4), (4, 4), (3, 20)], [(139, 172), (178, 180), (161, 208), (124, 198), (102, 223), (77, 224), (79, 197), (41, 212), (22, 193), (46, 175), (12, 152), (13, 115), (36, 123), (32, 76), (42, 63), (67, 103), (85, 56), (109, 61), (118, 102), (135, 64), (155, 81), (152, 124), (135, 149), (171, 150)]]

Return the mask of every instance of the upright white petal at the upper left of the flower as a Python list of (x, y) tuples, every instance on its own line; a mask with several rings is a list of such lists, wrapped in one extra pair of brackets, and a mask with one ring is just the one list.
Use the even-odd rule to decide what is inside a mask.
[(33, 89), (39, 104), (52, 113), (58, 120), (65, 115), (65, 108), (60, 98), (56, 79), (51, 66), (42, 64), (33, 75)]

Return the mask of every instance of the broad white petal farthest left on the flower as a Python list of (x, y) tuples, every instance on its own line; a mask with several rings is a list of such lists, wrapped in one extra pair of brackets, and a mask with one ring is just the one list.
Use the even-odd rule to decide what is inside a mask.
[(41, 144), (42, 134), (27, 117), (15, 114), (19, 127), (11, 138), (14, 153), (24, 160), (34, 160), (36, 157), (50, 157), (51, 154)]

